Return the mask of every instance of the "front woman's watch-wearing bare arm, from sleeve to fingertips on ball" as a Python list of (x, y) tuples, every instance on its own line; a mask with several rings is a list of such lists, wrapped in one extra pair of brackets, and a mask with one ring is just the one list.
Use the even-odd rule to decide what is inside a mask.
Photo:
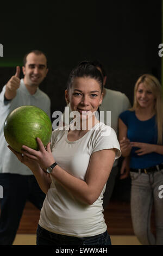
[[(42, 168), (47, 168), (55, 162), (50, 145), (47, 150), (43, 147), (40, 139), (37, 139), (40, 151), (35, 151), (23, 146), (24, 155), (39, 162)], [(28, 152), (28, 153), (27, 153)], [(101, 194), (108, 180), (115, 159), (115, 149), (100, 150), (92, 154), (89, 167), (87, 168), (86, 180), (81, 180), (67, 173), (60, 166), (55, 166), (51, 175), (74, 196), (87, 204), (93, 204)]]

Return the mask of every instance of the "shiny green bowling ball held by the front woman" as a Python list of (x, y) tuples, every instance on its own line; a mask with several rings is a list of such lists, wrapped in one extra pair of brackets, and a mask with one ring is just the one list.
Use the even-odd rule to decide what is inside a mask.
[(39, 150), (36, 138), (44, 146), (52, 136), (52, 123), (48, 115), (35, 106), (21, 106), (12, 111), (4, 122), (4, 137), (10, 147), (21, 152), (22, 145)]

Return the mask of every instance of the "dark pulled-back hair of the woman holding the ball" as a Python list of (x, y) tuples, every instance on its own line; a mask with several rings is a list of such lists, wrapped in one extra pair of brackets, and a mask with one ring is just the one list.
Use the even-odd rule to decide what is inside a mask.
[(101, 72), (96, 68), (96, 65), (93, 62), (84, 60), (80, 62), (76, 68), (74, 68), (68, 77), (67, 81), (67, 90), (69, 91), (72, 87), (74, 78), (77, 77), (90, 77), (95, 79), (101, 88), (101, 93), (103, 92), (103, 76)]

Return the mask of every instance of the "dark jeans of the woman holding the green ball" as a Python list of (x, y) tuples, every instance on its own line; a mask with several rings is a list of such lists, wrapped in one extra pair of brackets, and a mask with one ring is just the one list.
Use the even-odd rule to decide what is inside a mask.
[(46, 229), (37, 227), (37, 245), (111, 245), (110, 236), (104, 233), (90, 237), (75, 237), (55, 234)]

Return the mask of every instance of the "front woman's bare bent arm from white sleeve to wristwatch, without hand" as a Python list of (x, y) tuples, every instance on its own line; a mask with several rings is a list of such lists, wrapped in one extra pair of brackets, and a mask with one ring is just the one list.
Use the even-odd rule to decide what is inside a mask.
[(108, 180), (115, 159), (115, 150), (106, 149), (92, 154), (86, 180), (80, 180), (56, 166), (52, 176), (74, 196), (87, 204), (93, 204), (100, 196)]

